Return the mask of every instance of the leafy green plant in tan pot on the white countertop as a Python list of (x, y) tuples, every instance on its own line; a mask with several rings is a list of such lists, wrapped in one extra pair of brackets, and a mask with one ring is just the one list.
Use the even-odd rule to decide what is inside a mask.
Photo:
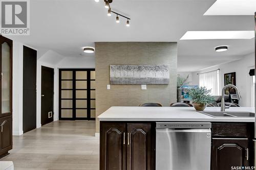
[(215, 99), (211, 96), (211, 89), (207, 90), (206, 87), (197, 87), (189, 90), (189, 96), (193, 102), (196, 110), (203, 111), (207, 104), (214, 103)]

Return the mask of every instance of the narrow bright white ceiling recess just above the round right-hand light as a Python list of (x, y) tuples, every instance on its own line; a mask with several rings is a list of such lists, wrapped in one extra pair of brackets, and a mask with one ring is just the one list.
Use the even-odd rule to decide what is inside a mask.
[(251, 39), (254, 31), (187, 31), (180, 40)]

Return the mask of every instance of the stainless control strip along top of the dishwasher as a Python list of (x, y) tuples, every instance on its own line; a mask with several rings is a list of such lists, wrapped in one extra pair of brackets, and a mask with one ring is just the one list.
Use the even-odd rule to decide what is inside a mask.
[(156, 128), (209, 129), (211, 128), (211, 123), (209, 122), (157, 122)]

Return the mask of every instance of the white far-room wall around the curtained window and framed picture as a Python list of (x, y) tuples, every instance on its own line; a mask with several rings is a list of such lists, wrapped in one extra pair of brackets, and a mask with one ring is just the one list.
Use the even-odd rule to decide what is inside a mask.
[[(192, 73), (193, 85), (199, 85), (200, 72), (220, 69), (220, 90), (224, 86), (224, 74), (229, 72), (236, 72), (236, 84), (241, 92), (242, 99), (240, 101), (241, 106), (251, 107), (251, 77), (249, 76), (249, 70), (254, 68), (254, 54), (248, 54), (241, 60), (229, 62), (213, 66), (211, 68), (203, 69)], [(220, 92), (221, 93), (221, 92)]]

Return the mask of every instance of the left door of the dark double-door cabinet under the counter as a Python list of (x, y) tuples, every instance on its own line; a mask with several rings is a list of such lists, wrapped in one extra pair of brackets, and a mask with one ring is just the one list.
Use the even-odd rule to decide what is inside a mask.
[(125, 123), (100, 123), (100, 170), (125, 169)]

